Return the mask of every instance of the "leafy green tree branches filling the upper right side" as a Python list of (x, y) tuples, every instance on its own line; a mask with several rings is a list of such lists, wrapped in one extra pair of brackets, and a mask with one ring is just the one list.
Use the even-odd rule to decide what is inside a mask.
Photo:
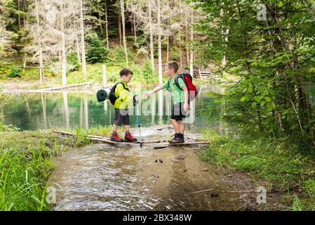
[(245, 133), (288, 136), (307, 152), (315, 149), (314, 106), (305, 89), (314, 84), (314, 18), (307, 4), (281, 2), (264, 1), (267, 21), (260, 21), (255, 0), (196, 1), (207, 17), (195, 30), (208, 39), (194, 46), (206, 62), (220, 65), (217, 74), (241, 77), (220, 97), (224, 120)]

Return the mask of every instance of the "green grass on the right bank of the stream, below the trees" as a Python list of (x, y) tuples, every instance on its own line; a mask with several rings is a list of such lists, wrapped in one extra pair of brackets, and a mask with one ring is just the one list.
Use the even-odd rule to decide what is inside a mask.
[(202, 160), (264, 179), (268, 190), (285, 193), (283, 201), (290, 210), (315, 210), (314, 153), (302, 155), (287, 138), (219, 135), (210, 129), (203, 137), (211, 143), (199, 153)]

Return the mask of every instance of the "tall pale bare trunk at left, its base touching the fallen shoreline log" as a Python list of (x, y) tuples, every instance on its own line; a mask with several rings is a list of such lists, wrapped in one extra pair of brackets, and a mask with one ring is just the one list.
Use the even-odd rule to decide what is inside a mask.
[(60, 3), (60, 30), (61, 30), (61, 75), (62, 86), (67, 85), (67, 61), (66, 61), (66, 37), (65, 37), (65, 18), (63, 15), (63, 5)]

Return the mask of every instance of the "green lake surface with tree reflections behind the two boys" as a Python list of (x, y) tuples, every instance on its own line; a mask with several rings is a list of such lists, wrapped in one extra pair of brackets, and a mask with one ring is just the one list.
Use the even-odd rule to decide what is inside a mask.
[[(203, 85), (199, 87), (199, 96), (190, 106), (192, 112), (185, 122), (206, 127), (203, 117), (198, 115), (204, 103), (213, 101), (207, 96), (208, 90), (222, 91), (219, 86)], [(146, 89), (142, 91), (147, 91)], [(135, 89), (132, 94), (142, 95)], [(109, 101), (98, 103), (91, 92), (59, 91), (39, 94), (23, 94), (23, 101), (14, 99), (1, 105), (1, 120), (13, 124), (21, 130), (55, 129), (55, 128), (88, 128), (93, 125), (112, 125), (114, 109)], [(150, 127), (155, 124), (169, 124), (171, 101), (168, 91), (160, 91), (147, 100), (142, 100), (141, 124)], [(194, 110), (196, 109), (196, 110)], [(130, 125), (137, 126), (135, 107), (130, 110)]]

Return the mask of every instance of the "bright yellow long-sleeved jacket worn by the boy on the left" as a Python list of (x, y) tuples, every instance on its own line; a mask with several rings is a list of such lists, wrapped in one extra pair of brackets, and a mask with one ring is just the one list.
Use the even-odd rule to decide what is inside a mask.
[[(128, 84), (121, 80), (123, 84), (117, 84), (115, 89), (115, 95), (116, 97), (119, 96), (119, 98), (116, 99), (114, 108), (116, 109), (128, 109), (130, 104), (133, 102), (133, 98), (130, 96), (130, 92), (126, 89), (128, 89)], [(123, 88), (123, 85), (126, 87), (126, 89)]]

